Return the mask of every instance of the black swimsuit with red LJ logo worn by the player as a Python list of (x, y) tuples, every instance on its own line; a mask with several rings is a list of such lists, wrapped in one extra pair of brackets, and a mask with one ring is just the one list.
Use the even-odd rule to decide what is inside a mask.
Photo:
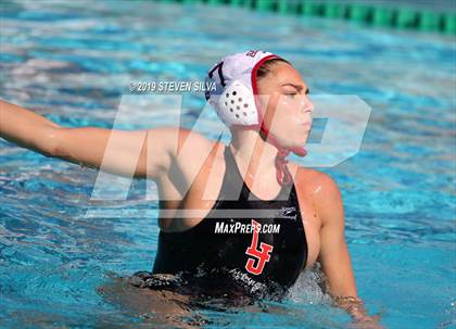
[[(192, 291), (204, 288), (206, 294), (281, 299), (307, 261), (294, 184), (283, 186), (274, 200), (261, 200), (243, 181), (229, 147), (225, 161), (223, 186), (207, 216), (183, 232), (160, 232), (153, 274), (180, 275), (180, 282)], [(157, 288), (148, 273), (137, 275)]]

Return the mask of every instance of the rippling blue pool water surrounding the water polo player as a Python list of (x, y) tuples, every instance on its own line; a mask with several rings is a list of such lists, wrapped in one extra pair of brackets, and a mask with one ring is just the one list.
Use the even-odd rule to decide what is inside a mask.
[[(320, 168), (342, 191), (358, 293), (387, 328), (456, 327), (454, 38), (150, 1), (7, 1), (1, 15), (1, 98), (66, 127), (111, 127), (129, 81), (202, 79), (249, 49), (290, 60), (312, 93), (360, 97), (372, 109), (360, 151)], [(185, 104), (191, 125), (204, 98)], [(122, 128), (170, 121), (138, 115)], [(203, 129), (217, 137), (211, 119)], [(98, 288), (151, 269), (153, 186), (137, 179), (127, 200), (94, 200), (92, 169), (4, 140), (0, 161), (0, 326), (150, 328)], [(317, 281), (303, 274), (268, 312), (198, 312), (206, 328), (347, 328)]]

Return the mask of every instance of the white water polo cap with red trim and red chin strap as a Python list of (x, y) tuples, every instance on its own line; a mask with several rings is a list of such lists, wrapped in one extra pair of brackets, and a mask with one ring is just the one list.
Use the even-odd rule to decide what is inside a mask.
[(286, 159), (290, 152), (299, 156), (307, 154), (304, 148), (284, 148), (269, 134), (263, 118), (264, 111), (258, 100), (256, 73), (262, 64), (280, 56), (266, 51), (248, 51), (227, 55), (219, 60), (208, 72), (207, 81), (215, 83), (215, 90), (206, 92), (206, 100), (229, 128), (238, 126), (255, 129), (279, 151), (276, 157), (277, 181), (288, 185), (292, 181)]

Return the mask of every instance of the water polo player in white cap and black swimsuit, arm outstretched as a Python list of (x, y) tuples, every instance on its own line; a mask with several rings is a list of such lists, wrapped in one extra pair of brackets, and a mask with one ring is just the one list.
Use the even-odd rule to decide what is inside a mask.
[[(0, 137), (118, 175), (140, 147), (134, 175), (157, 185), (161, 231), (153, 270), (137, 273), (136, 286), (281, 300), (318, 261), (337, 304), (377, 328), (357, 296), (335, 182), (287, 160), (306, 154), (312, 126), (300, 73), (278, 55), (249, 51), (223, 58), (207, 79), (217, 88), (206, 100), (232, 135), (228, 145), (178, 127), (64, 128), (7, 102)], [(109, 141), (116, 156), (104, 156)]]

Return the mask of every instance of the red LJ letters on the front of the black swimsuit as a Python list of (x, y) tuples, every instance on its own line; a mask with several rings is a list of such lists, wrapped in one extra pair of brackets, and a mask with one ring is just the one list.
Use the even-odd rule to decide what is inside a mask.
[(258, 232), (262, 227), (262, 225), (255, 220), (252, 219), (252, 225), (254, 227), (253, 230), (253, 237), (252, 237), (252, 243), (246, 249), (245, 254), (252, 257), (255, 257), (258, 262), (256, 266), (255, 258), (249, 258), (245, 264), (245, 269), (257, 276), (263, 273), (263, 269), (265, 268), (266, 262), (269, 262), (270, 260), (270, 253), (273, 252), (274, 245), (267, 244), (262, 242), (259, 244), (259, 250), (257, 249), (258, 245)]

